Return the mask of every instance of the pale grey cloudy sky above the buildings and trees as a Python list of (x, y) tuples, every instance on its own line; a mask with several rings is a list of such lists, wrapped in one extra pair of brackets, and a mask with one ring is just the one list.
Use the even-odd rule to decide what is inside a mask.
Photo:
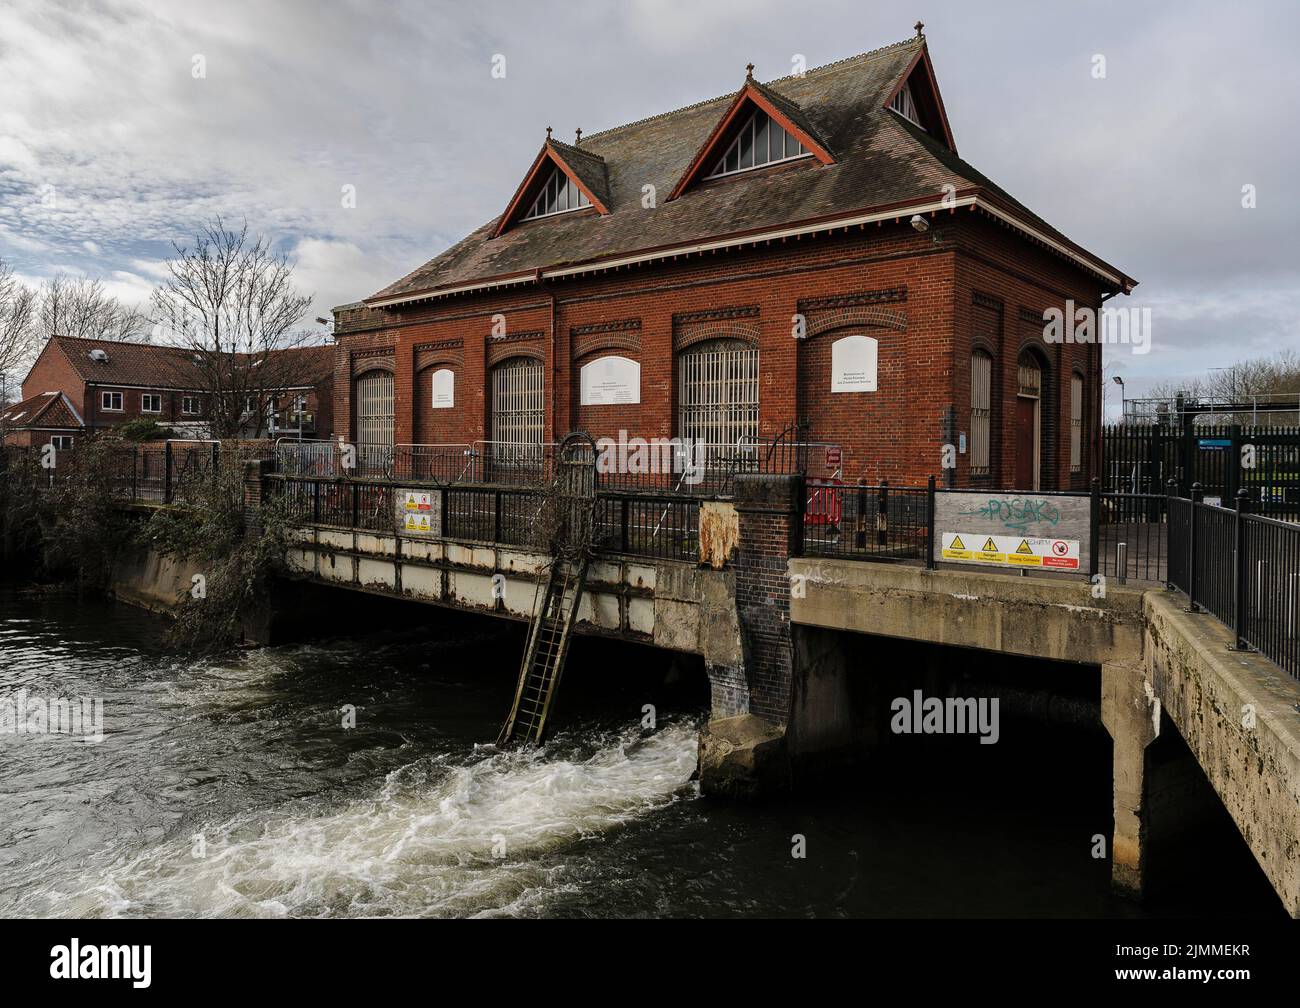
[(547, 125), (595, 133), (918, 17), (962, 156), (1141, 281), (1152, 351), (1108, 354), (1130, 395), (1300, 347), (1295, 0), (4, 0), (0, 258), (143, 300), (220, 212), (325, 315), (499, 213)]

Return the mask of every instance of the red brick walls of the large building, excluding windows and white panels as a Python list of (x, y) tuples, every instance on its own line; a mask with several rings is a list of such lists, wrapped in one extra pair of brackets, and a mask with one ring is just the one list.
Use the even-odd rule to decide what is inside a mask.
[[(737, 323), (757, 326), (759, 346), (759, 428), (771, 437), (797, 418), (812, 421), (815, 440), (844, 445), (846, 476), (920, 484), (939, 472), (940, 449), (970, 429), (970, 350), (975, 337), (975, 291), (1005, 306), (1002, 356), (998, 367), (997, 428), (993, 460), (998, 481), (1014, 470), (1015, 352), (1031, 336), (1019, 320), (1022, 308), (1039, 313), (1063, 297), (1096, 304), (1100, 287), (1063, 260), (1013, 237), (974, 215), (940, 216), (940, 235), (919, 235), (906, 221), (854, 229), (833, 237), (768, 243), (758, 248), (697, 256), (680, 263), (621, 269), (573, 281), (554, 281), (488, 294), (428, 302), (402, 310), (344, 310), (338, 313), (334, 408), (338, 431), (351, 429), (351, 376), (364, 367), (364, 354), (387, 355), (395, 372), (395, 440), (468, 442), (490, 437), (489, 360), (510, 349), (541, 356), (547, 367), (547, 431), (559, 440), (584, 428), (595, 437), (671, 437), (676, 433), (673, 385), (673, 317), (684, 313), (757, 307)], [(875, 304), (871, 295), (894, 291)], [(900, 294), (901, 293), (901, 294)], [(828, 299), (859, 297), (845, 308)], [(866, 300), (861, 300), (863, 295)], [(552, 299), (554, 297), (554, 325)], [(824, 324), (844, 317), (846, 328), (793, 338), (793, 316), (803, 304), (806, 317)], [(807, 307), (807, 306), (818, 307)], [(861, 315), (872, 306), (901, 319), (904, 328), (863, 328)], [(842, 312), (837, 315), (836, 312)], [(493, 316), (506, 320), (504, 342), (491, 336)], [(987, 310), (985, 310), (987, 313)], [(994, 312), (996, 316), (996, 312)], [(623, 345), (597, 346), (593, 326), (640, 321), (640, 328), (614, 330)], [(720, 319), (719, 334), (731, 323)], [(985, 329), (988, 323), (985, 319)], [(1041, 324), (1039, 324), (1039, 334)], [(849, 332), (880, 341), (879, 390), (828, 391), (829, 345)], [(638, 346), (625, 342), (634, 333)], [(554, 343), (554, 350), (552, 350)], [(433, 347), (433, 350), (430, 350)], [(573, 360), (575, 350), (582, 358)], [(1100, 378), (1097, 347), (1046, 347), (1057, 362), (1050, 373), (1056, 390), (1054, 479), (1069, 485), (1069, 372), (1082, 365), (1089, 397)], [(416, 382), (416, 362), (432, 352), (458, 354), (456, 408), (432, 418), (426, 408), (428, 375)], [(578, 406), (577, 368), (593, 356), (616, 352), (641, 363), (641, 402), (628, 406)], [(1063, 385), (1062, 385), (1063, 381)], [(1008, 405), (1009, 403), (1009, 405)], [(1095, 424), (1093, 424), (1095, 429)], [(956, 479), (968, 483), (968, 455), (959, 458)], [(1091, 471), (1091, 470), (1089, 470)], [(1044, 480), (1048, 485), (1048, 480)]]

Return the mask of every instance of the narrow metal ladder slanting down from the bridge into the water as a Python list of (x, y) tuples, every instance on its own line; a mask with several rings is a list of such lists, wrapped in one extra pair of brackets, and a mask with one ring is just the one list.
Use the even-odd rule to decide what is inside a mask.
[(576, 559), (556, 557), (550, 564), (542, 603), (533, 614), (528, 646), (520, 663), (515, 704), (497, 739), (498, 745), (542, 743), (546, 717), (559, 688), (569, 637), (577, 622), (586, 563), (584, 554)]

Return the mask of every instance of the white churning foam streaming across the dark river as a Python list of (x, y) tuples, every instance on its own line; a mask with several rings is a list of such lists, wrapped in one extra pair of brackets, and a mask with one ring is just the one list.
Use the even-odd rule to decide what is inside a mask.
[[(116, 916), (486, 916), (533, 913), (571, 891), (585, 842), (688, 793), (698, 727), (556, 745), (488, 748), (464, 765), (426, 757), (378, 793), (329, 810), (277, 809), (122, 857), (39, 895), (39, 912)], [(190, 832), (194, 832), (192, 830)], [(504, 857), (500, 845), (504, 845)], [(494, 851), (494, 847), (497, 848)], [(35, 909), (35, 908), (34, 908)]]

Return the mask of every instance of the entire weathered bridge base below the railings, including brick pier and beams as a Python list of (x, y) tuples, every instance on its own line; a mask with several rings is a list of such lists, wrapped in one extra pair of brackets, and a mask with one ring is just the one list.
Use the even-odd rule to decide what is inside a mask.
[[(260, 480), (250, 470), (246, 493)], [(961, 656), (1001, 656), (991, 666), (1014, 663), (1017, 682), (967, 685), (1005, 710), (1109, 734), (1118, 890), (1149, 890), (1161, 845), (1195, 842), (1193, 795), (1217, 796), (1300, 917), (1300, 683), (1228, 650), (1213, 617), (1183, 613), (1160, 588), (798, 557), (803, 506), (798, 477), (738, 473), (733, 499), (702, 515), (698, 563), (602, 554), (590, 566), (577, 632), (702, 657), (706, 793), (802, 788), (888, 743), (881, 713), (898, 680), (863, 646), (930, 649), (928, 669), (897, 657), (893, 667), (931, 684), (970, 661)], [(547, 562), (519, 546), (318, 524), (295, 528), (289, 555), (296, 577), (520, 620)]]

